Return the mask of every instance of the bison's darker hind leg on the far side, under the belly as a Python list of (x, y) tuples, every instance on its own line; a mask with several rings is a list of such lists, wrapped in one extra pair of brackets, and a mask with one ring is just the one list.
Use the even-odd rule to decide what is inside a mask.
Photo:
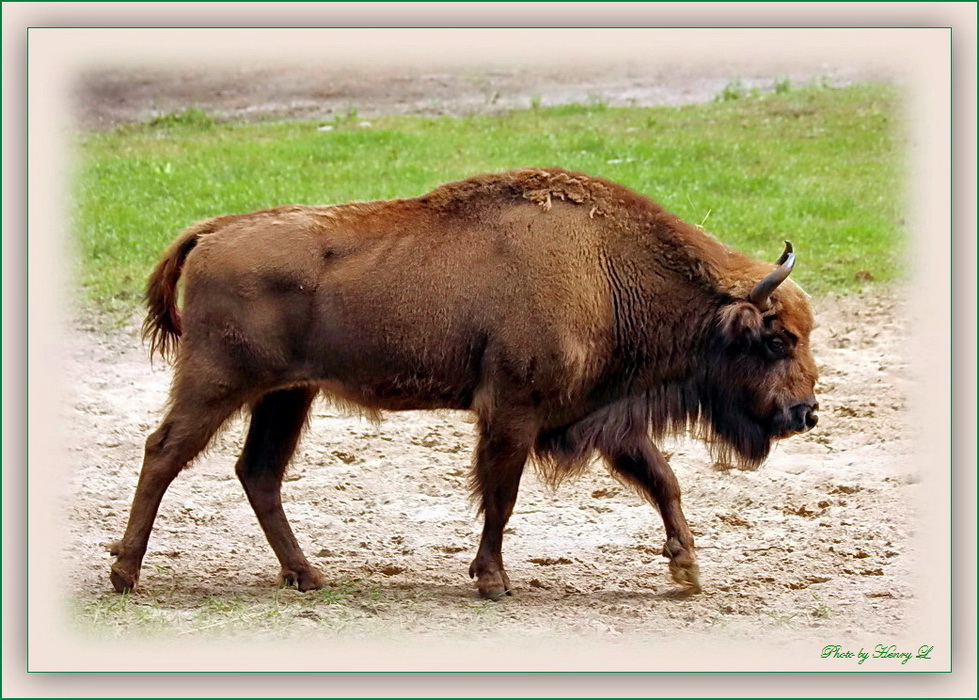
[(301, 591), (322, 588), (323, 578), (307, 561), (282, 510), (282, 476), (306, 424), (316, 390), (280, 389), (252, 407), (245, 448), (235, 472), (265, 537), (282, 566), (280, 582)]

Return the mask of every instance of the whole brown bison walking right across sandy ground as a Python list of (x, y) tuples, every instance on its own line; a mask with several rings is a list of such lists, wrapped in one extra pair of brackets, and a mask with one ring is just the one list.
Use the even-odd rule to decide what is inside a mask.
[(621, 185), (560, 169), (198, 223), (149, 280), (144, 334), (175, 374), (112, 584), (136, 585), (167, 487), (247, 406), (238, 478), (283, 582), (322, 586), (280, 501), (322, 392), (371, 413), (475, 414), (484, 525), (469, 573), (483, 596), (510, 592), (503, 529), (528, 459), (557, 481), (596, 453), (659, 508), (673, 578), (698, 590), (680, 489), (653, 440), (693, 428), (719, 457), (754, 465), (816, 424), (794, 263), (788, 243), (773, 269)]

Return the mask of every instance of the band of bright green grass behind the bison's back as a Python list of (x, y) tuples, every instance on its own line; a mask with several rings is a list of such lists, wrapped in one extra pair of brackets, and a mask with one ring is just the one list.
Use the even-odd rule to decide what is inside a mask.
[[(190, 110), (77, 144), (73, 230), (84, 297), (129, 309), (190, 223), (286, 203), (422, 194), (484, 171), (583, 170), (628, 185), (721, 240), (774, 260), (791, 239), (811, 293), (904, 270), (904, 158), (890, 86), (738, 91), (709, 104), (603, 102), (464, 118), (348, 113), (220, 123)], [(737, 98), (731, 97), (739, 92)], [(328, 127), (328, 128), (327, 128)], [(858, 276), (858, 272), (861, 274)]]

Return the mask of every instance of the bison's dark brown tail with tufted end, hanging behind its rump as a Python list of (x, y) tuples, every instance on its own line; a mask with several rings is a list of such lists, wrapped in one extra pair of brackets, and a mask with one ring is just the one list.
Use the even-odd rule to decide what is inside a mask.
[(143, 340), (149, 341), (150, 355), (159, 353), (170, 360), (180, 340), (180, 312), (177, 309), (177, 283), (184, 261), (198, 239), (216, 228), (214, 219), (194, 224), (164, 251), (146, 285), (148, 312), (143, 321)]

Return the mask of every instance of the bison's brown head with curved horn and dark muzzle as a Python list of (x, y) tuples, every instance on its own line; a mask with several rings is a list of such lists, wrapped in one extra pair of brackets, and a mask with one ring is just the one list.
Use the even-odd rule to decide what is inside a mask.
[(708, 343), (703, 418), (721, 451), (733, 452), (722, 456), (750, 466), (768, 456), (773, 440), (817, 421), (812, 310), (806, 294), (786, 282), (794, 265), (786, 241), (776, 269), (718, 309)]

